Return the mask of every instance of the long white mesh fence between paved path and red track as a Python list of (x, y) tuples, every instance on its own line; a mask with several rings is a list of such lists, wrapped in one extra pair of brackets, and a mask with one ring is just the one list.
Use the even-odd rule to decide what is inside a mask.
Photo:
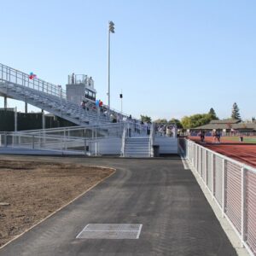
[(241, 245), (256, 255), (256, 169), (187, 139), (179, 147), (227, 218)]

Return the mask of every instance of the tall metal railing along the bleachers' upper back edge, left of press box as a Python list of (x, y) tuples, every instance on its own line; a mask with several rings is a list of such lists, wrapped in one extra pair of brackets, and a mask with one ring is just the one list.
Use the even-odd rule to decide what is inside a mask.
[(62, 90), (61, 86), (50, 84), (37, 77), (31, 79), (29, 74), (3, 64), (0, 64), (0, 80), (12, 84), (19, 84), (34, 90), (43, 91), (49, 95), (66, 99), (66, 91)]

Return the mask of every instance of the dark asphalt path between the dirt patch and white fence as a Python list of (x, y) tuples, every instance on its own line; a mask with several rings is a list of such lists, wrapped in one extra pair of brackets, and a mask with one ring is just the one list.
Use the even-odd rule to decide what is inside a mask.
[[(117, 172), (3, 247), (0, 256), (236, 255), (195, 177), (178, 158), (26, 158), (113, 166)], [(143, 224), (143, 229), (137, 240), (76, 239), (86, 224)]]

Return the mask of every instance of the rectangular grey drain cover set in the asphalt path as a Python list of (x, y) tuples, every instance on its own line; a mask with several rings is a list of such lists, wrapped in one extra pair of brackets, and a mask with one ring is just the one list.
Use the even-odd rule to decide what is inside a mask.
[(76, 238), (138, 239), (143, 224), (88, 224)]

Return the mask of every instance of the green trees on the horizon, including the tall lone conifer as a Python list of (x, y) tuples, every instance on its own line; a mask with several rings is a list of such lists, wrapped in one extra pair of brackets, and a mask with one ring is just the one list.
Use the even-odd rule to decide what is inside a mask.
[[(241, 119), (239, 108), (236, 102), (232, 106), (230, 118)], [(190, 116), (184, 116), (180, 120), (175, 118), (172, 118), (170, 120), (156, 119), (154, 120), (154, 123), (166, 124), (166, 125), (176, 124), (178, 129), (189, 129), (189, 128), (195, 128), (201, 125), (207, 125), (214, 119), (218, 119), (218, 116), (215, 113), (214, 109), (211, 108), (208, 113), (196, 113)], [(141, 114), (141, 120), (142, 122), (152, 122), (152, 119), (149, 116), (143, 115), (143, 114)]]

